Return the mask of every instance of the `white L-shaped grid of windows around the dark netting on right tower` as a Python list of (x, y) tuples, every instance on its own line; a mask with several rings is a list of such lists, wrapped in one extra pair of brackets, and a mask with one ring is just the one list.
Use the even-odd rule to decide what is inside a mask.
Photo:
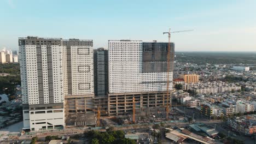
[[(109, 93), (166, 91), (167, 73), (143, 73), (141, 40), (109, 40)], [(170, 91), (172, 90), (172, 72)]]

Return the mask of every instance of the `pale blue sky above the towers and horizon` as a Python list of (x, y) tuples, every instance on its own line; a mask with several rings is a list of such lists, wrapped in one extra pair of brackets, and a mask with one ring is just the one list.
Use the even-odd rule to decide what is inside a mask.
[(256, 1), (0, 0), (0, 48), (18, 49), (18, 38), (167, 41), (176, 51), (256, 51)]

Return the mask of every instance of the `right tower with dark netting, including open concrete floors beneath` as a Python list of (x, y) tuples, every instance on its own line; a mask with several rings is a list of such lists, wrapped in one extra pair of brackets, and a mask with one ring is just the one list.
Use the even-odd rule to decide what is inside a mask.
[[(131, 112), (135, 97), (139, 107), (161, 107), (166, 104), (163, 95), (167, 88), (168, 43), (143, 43), (141, 40), (108, 41), (109, 115)], [(171, 43), (171, 57), (174, 44)], [(172, 59), (172, 58), (171, 58)], [(172, 65), (169, 90), (172, 91)], [(150, 100), (153, 100), (152, 102)], [(138, 105), (138, 104), (137, 104)]]

